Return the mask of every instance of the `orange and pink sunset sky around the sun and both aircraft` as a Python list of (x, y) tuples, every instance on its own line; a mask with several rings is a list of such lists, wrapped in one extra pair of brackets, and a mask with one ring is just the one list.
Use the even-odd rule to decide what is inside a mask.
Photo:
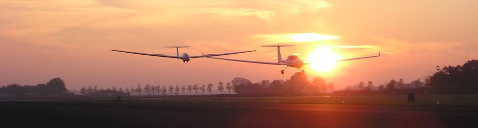
[[(112, 49), (175, 55), (244, 50), (222, 56), (277, 61), (317, 49), (341, 58), (329, 71), (305, 66), (338, 88), (359, 81), (424, 78), (435, 66), (461, 65), (478, 57), (478, 1), (0, 1), (0, 85), (35, 85), (53, 77), (68, 89), (136, 87), (286, 79), (284, 66), (208, 58), (189, 63)], [(320, 53), (320, 52), (319, 52)], [(314, 55), (316, 56), (316, 55)]]

